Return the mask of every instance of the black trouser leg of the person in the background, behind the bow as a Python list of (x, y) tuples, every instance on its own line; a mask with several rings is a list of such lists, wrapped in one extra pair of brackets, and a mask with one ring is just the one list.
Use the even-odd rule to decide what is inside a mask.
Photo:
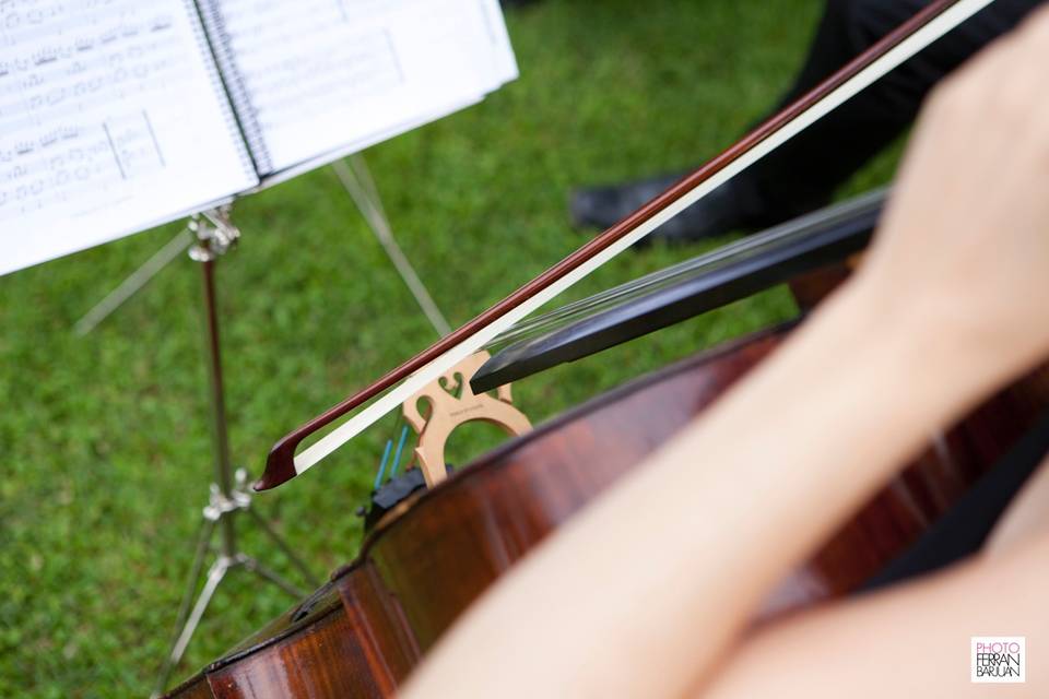
[[(929, 0), (828, 0), (804, 67), (780, 106), (793, 102)], [(825, 203), (835, 188), (899, 135), (929, 90), (1007, 32), (1037, 0), (997, 0), (741, 175), (745, 208), (775, 223)]]

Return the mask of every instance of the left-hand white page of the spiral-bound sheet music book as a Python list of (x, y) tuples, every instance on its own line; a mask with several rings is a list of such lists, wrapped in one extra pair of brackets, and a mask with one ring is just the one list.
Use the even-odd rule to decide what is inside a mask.
[(191, 0), (0, 0), (0, 274), (255, 186)]

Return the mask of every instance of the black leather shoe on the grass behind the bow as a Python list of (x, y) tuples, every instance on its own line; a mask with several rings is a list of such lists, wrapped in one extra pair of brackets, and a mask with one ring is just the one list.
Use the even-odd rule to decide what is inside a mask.
[[(664, 175), (627, 185), (576, 190), (568, 204), (573, 222), (579, 227), (608, 228), (682, 177)], [(754, 199), (740, 183), (730, 180), (639, 240), (635, 247), (648, 247), (656, 241), (686, 245), (733, 232), (752, 230), (764, 225), (766, 218), (757, 211)]]

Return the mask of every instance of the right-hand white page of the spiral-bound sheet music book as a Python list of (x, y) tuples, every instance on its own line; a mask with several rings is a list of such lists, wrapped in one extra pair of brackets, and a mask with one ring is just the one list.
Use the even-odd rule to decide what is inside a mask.
[(493, 1), (205, 0), (260, 173), (360, 150), (516, 76)]

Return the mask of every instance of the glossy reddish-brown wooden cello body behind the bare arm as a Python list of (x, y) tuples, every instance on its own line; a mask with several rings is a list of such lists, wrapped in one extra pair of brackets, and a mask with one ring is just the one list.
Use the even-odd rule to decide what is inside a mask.
[[(633, 381), (401, 502), (353, 564), (169, 696), (393, 695), (492, 582), (774, 353), (788, 333), (765, 331)], [(755, 623), (846, 594), (882, 569), (1023, 435), (1045, 405), (1046, 388), (1041, 377), (1018, 382), (938, 437), (780, 583)], [(727, 464), (695, 454), (695, 467)], [(628, 565), (644, 561), (624, 560)]]

